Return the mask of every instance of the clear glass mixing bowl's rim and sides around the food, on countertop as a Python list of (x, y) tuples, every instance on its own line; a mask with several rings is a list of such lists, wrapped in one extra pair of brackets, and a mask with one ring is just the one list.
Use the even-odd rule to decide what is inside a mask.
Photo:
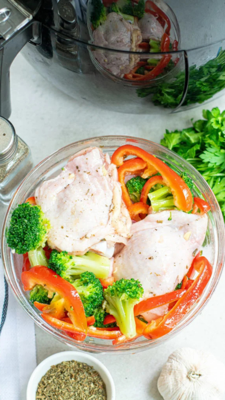
[[(147, 340), (142, 337), (136, 341), (124, 343), (119, 346), (113, 346), (111, 340), (94, 339), (90, 337), (87, 337), (84, 342), (77, 342), (76, 340), (67, 336), (64, 332), (53, 328), (44, 322), (40, 316), (40, 312), (29, 302), (28, 294), (24, 292), (20, 280), (23, 257), (22, 255), (12, 254), (11, 249), (8, 248), (6, 243), (6, 232), (10, 224), (12, 211), (16, 208), (16, 206), (24, 202), (26, 198), (33, 196), (34, 190), (41, 182), (56, 176), (60, 172), (61, 168), (65, 166), (68, 158), (70, 158), (70, 156), (72, 156), (74, 153), (89, 146), (98, 146), (101, 147), (104, 152), (108, 152), (111, 155), (116, 148), (124, 144), (133, 144), (143, 148), (147, 152), (154, 154), (169, 164), (178, 173), (186, 171), (195, 184), (194, 191), (197, 196), (203, 196), (205, 200), (209, 202), (211, 205), (211, 211), (208, 213), (209, 224), (206, 238), (203, 243), (203, 255), (205, 255), (211, 262), (213, 266), (213, 274), (199, 302), (195, 304), (192, 310), (185, 316), (185, 318), (183, 318), (183, 320), (181, 320), (176, 328), (174, 328), (166, 336), (156, 340)], [(38, 326), (40, 326), (46, 332), (52, 334), (52, 336), (61, 342), (68, 344), (69, 346), (74, 346), (80, 350), (96, 353), (107, 352), (111, 354), (119, 354), (123, 352), (143, 351), (164, 343), (172, 338), (175, 334), (180, 332), (199, 314), (199, 312), (201, 312), (203, 307), (211, 298), (223, 268), (225, 257), (225, 225), (217, 200), (207, 182), (205, 182), (199, 172), (197, 172), (195, 168), (183, 160), (183, 158), (179, 157), (177, 154), (173, 153), (167, 148), (150, 142), (149, 140), (129, 136), (102, 136), (75, 142), (61, 148), (40, 162), (40, 164), (38, 164), (30, 172), (30, 174), (28, 174), (14, 194), (6, 213), (2, 230), (1, 245), (2, 261), (8, 284), (10, 285), (10, 288), (20, 305)]]

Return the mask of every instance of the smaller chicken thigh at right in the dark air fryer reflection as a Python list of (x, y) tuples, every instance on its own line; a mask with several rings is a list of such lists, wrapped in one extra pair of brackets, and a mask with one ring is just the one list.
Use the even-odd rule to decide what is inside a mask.
[(141, 35), (143, 40), (155, 39), (161, 40), (164, 34), (163, 27), (155, 16), (151, 14), (145, 14), (139, 21), (138, 26), (141, 30)]

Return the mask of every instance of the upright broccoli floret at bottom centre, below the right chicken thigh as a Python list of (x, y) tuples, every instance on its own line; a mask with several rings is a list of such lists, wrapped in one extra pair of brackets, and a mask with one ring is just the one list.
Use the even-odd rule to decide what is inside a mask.
[(105, 310), (115, 317), (121, 332), (128, 338), (136, 334), (133, 307), (143, 295), (139, 280), (120, 279), (104, 290)]

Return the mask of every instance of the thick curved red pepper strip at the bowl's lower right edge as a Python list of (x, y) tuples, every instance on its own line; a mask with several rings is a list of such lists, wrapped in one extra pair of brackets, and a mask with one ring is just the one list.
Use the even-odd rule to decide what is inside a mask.
[(195, 270), (199, 272), (197, 278), (185, 292), (185, 294), (176, 302), (175, 306), (164, 316), (147, 324), (143, 335), (148, 339), (156, 339), (169, 333), (181, 319), (189, 312), (196, 300), (203, 293), (205, 286), (212, 275), (212, 266), (205, 257), (199, 257), (195, 261)]

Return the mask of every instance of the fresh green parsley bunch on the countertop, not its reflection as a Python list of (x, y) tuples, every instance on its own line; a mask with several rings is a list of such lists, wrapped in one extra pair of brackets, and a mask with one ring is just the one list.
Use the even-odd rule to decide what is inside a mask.
[(213, 190), (225, 219), (225, 111), (203, 110), (191, 128), (169, 132), (161, 144), (192, 164)]

